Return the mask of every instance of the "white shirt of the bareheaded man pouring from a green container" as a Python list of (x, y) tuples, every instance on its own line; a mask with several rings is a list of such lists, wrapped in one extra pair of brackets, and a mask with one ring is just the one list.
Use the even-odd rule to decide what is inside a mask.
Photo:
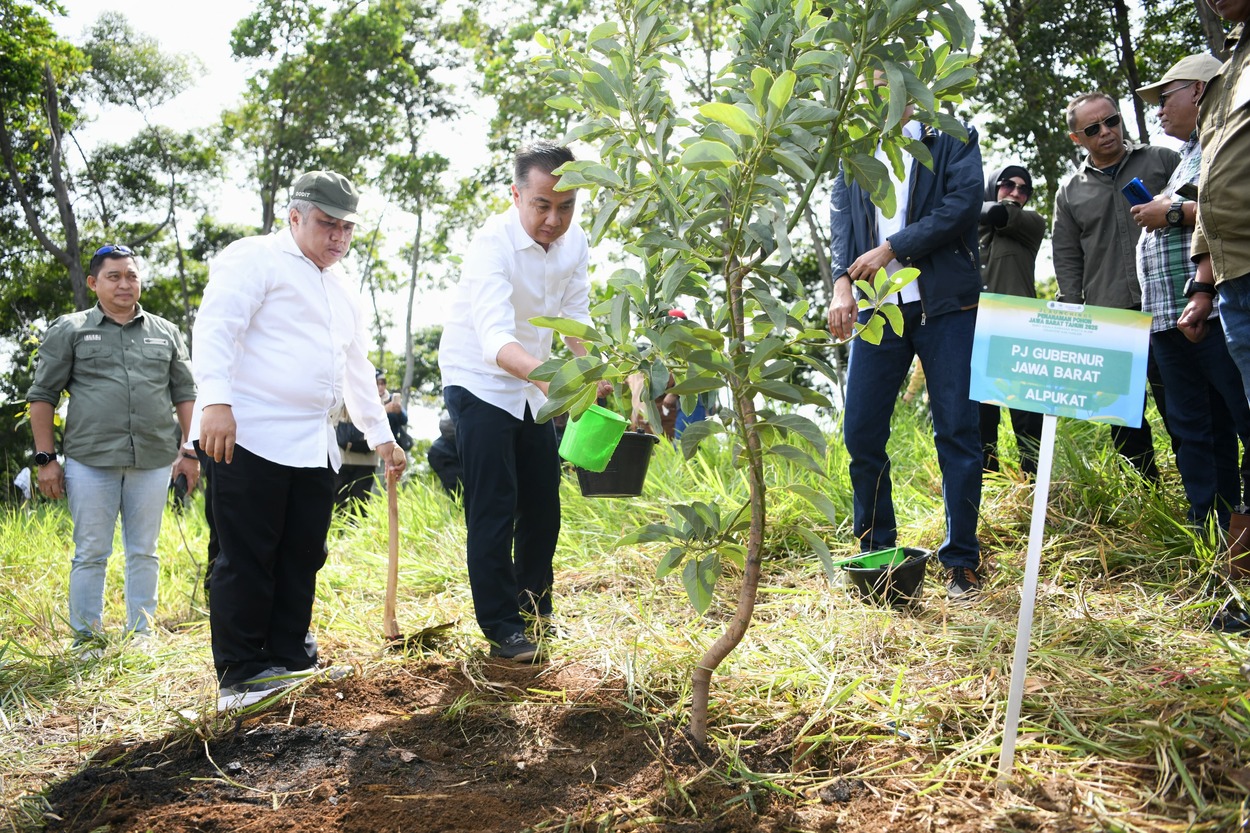
[(442, 385), (465, 388), (482, 401), (524, 419), (546, 396), (532, 383), (499, 366), (508, 344), (546, 361), (552, 330), (529, 319), (548, 315), (590, 324), (590, 251), (572, 223), (545, 251), (525, 233), (516, 206), (486, 220), (474, 235), (460, 269), (460, 284), (439, 343)]

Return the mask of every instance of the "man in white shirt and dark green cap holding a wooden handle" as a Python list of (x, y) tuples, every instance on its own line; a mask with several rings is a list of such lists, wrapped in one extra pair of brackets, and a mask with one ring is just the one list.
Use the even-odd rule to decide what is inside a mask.
[(345, 405), (388, 467), (404, 468), (392, 462), (364, 306), (335, 268), (358, 199), (339, 174), (304, 174), (288, 228), (238, 240), (209, 264), (194, 329), (192, 437), (210, 460), (220, 542), (210, 580), (219, 709), (264, 699), (318, 667), (309, 624), (340, 465), (331, 416)]

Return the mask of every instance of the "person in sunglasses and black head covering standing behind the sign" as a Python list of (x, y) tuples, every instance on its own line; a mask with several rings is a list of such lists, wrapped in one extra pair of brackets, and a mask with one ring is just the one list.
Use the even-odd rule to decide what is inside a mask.
[[(981, 243), (981, 283), (988, 293), (1036, 298), (1034, 264), (1041, 240), (1046, 236), (1046, 220), (1030, 208), (1032, 175), (1020, 165), (1008, 165), (985, 183), (985, 205), (981, 208), (979, 230)], [(988, 472), (999, 470), (1000, 408), (988, 403), (979, 406), (981, 420), (981, 454)], [(1011, 408), (1011, 429), (1020, 454), (1020, 470), (1038, 473), (1038, 448), (1041, 445), (1041, 414)]]

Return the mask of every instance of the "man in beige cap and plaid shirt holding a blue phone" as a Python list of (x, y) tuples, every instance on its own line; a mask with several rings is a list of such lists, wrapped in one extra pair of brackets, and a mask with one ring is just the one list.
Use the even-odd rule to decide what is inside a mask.
[(1134, 206), (1132, 218), (1145, 229), (1138, 241), (1141, 309), (1152, 315), (1150, 350), (1162, 375), (1169, 425), (1180, 439), (1176, 470), (1189, 499), (1189, 520), (1206, 524), (1216, 517), (1228, 529), (1230, 510), (1241, 502), (1238, 434), (1250, 435), (1250, 406), (1224, 341), (1219, 310), (1212, 308), (1206, 320), (1218, 338), (1195, 344), (1178, 326), (1198, 271), (1190, 260), (1202, 156), (1198, 103), (1219, 71), (1215, 56), (1189, 55), (1159, 81), (1138, 89), (1144, 101), (1159, 108), (1164, 133), (1184, 144), (1166, 186), (1152, 201)]

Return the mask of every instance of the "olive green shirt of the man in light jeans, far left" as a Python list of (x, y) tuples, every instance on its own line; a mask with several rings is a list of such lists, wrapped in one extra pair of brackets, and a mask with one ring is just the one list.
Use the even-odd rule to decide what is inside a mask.
[(61, 315), (39, 345), (28, 401), (68, 390), (62, 450), (79, 463), (155, 469), (178, 454), (174, 405), (195, 399), (182, 334), (142, 306), (118, 324), (99, 305)]

